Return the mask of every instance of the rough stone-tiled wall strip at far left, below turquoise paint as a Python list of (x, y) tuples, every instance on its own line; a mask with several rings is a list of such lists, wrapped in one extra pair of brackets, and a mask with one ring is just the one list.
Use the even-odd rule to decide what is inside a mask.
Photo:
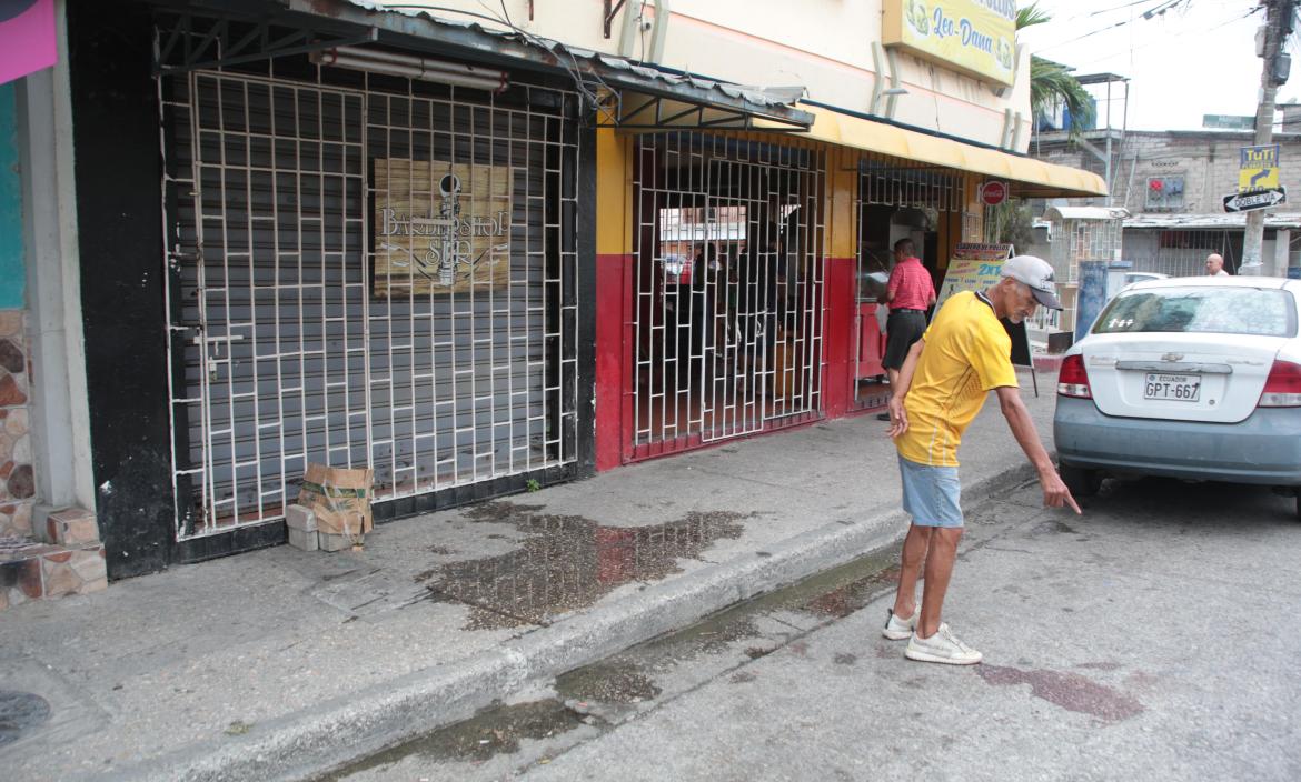
[(27, 399), (31, 364), (21, 309), (0, 309), (0, 536), (31, 536), (35, 504)]

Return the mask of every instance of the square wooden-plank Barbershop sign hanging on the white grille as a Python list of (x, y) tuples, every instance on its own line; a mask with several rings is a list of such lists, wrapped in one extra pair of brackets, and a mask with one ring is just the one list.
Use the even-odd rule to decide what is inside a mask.
[(375, 295), (510, 286), (510, 166), (375, 158)]

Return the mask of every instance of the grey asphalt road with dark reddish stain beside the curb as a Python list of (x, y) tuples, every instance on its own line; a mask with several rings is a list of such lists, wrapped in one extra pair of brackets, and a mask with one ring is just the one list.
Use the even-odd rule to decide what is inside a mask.
[(1301, 778), (1294, 500), (1150, 479), (1038, 505), (968, 514), (945, 618), (982, 665), (881, 638), (887, 552), (337, 778)]

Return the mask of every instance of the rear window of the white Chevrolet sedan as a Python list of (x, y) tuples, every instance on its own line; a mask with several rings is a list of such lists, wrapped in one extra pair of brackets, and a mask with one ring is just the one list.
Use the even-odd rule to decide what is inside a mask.
[(1187, 331), (1296, 336), (1292, 294), (1239, 287), (1171, 287), (1125, 291), (1112, 299), (1094, 334)]

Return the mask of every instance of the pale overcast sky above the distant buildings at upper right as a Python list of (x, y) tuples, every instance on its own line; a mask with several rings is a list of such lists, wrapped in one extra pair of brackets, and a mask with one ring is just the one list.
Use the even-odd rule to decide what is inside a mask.
[[(1039, 0), (1038, 5), (1053, 21), (1023, 30), (1020, 40), (1033, 53), (1075, 68), (1076, 75), (1128, 77), (1129, 129), (1194, 130), (1202, 127), (1202, 114), (1255, 114), (1262, 66), (1255, 31), (1265, 21), (1263, 9), (1250, 13), (1257, 0), (1179, 0), (1151, 18), (1144, 12), (1171, 6), (1171, 0)], [(1289, 44), (1292, 78), (1279, 88), (1279, 103), (1301, 103), (1296, 39)], [(1120, 127), (1124, 87), (1111, 90), (1111, 125)], [(1106, 96), (1102, 88), (1092, 92), (1102, 127)]]

